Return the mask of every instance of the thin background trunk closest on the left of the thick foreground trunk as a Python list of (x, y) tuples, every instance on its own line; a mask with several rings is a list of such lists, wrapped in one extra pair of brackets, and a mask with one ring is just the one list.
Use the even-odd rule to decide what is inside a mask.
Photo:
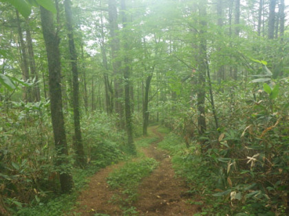
[(34, 50), (32, 45), (32, 38), (31, 38), (31, 32), (30, 32), (30, 23), (27, 20), (26, 21), (26, 40), (28, 44), (28, 56), (29, 56), (29, 67), (30, 67), (30, 73), (32, 75), (32, 80), (34, 80), (33, 88), (32, 88), (32, 98), (34, 101), (40, 101), (40, 88), (38, 83), (38, 72), (36, 71), (36, 65), (34, 60)]

